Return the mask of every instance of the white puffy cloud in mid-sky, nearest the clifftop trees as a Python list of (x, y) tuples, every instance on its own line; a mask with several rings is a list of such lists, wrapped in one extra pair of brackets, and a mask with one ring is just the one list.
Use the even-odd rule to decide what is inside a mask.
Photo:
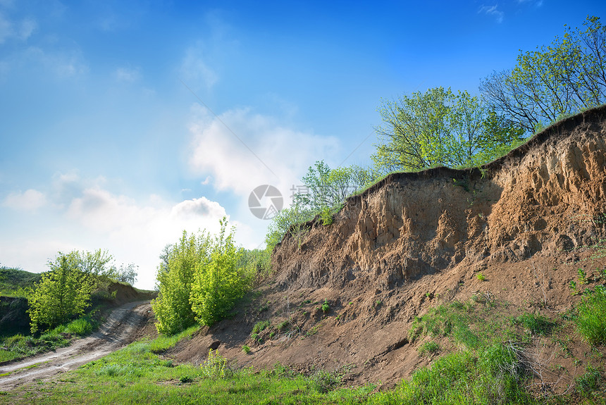
[(217, 189), (246, 198), (265, 184), (278, 187), (285, 197), (290, 195), (291, 187), (299, 184), (314, 161), (334, 156), (338, 149), (335, 137), (292, 130), (247, 108), (218, 118), (197, 108), (190, 132), (192, 172), (211, 175)]

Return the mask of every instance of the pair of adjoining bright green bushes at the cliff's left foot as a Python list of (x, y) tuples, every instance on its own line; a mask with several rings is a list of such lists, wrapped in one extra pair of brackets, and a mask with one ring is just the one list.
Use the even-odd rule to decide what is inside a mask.
[(165, 248), (166, 260), (162, 257), (157, 273), (159, 293), (152, 301), (159, 332), (174, 335), (196, 322), (212, 325), (247, 292), (255, 271), (268, 265), (259, 252), (245, 254), (235, 246), (226, 218), (220, 224), (216, 237), (184, 231), (177, 244)]

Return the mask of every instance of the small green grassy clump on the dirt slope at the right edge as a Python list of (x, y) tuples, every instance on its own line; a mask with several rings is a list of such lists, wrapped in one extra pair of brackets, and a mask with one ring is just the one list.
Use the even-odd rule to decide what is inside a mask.
[[(599, 286), (598, 286), (599, 287)], [(583, 297), (579, 315), (574, 317), (579, 334), (593, 345), (606, 344), (606, 291), (602, 288)]]

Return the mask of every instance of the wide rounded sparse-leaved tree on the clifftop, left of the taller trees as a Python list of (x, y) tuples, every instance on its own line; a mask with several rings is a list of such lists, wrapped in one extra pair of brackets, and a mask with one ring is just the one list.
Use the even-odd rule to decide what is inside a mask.
[(489, 111), (481, 99), (450, 88), (385, 101), (379, 109), (383, 126), (371, 156), (378, 171), (421, 170), (433, 166), (477, 166), (522, 139)]

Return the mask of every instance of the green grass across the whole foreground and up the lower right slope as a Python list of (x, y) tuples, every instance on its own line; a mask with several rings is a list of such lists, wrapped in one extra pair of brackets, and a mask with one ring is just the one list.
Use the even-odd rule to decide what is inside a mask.
[[(604, 301), (606, 295), (600, 305)], [(135, 342), (56, 380), (6, 392), (0, 404), (603, 404), (606, 342), (584, 356), (569, 351), (567, 345), (581, 339), (577, 315), (547, 317), (482, 295), (438, 306), (416, 318), (409, 331), (412, 347), (434, 356), (433, 363), (388, 392), (377, 392), (375, 385), (342, 387), (347, 368), (305, 376), (279, 365), (233, 370), (220, 356), (199, 366), (175, 365), (161, 356), (197, 331), (190, 328), (174, 338)], [(442, 349), (444, 342), (455, 349)], [(555, 363), (541, 366), (533, 357), (538, 343), (557, 353)], [(567, 360), (583, 363), (584, 372), (569, 376), (566, 392), (550, 394), (548, 386), (538, 385), (533, 370), (557, 371)]]

